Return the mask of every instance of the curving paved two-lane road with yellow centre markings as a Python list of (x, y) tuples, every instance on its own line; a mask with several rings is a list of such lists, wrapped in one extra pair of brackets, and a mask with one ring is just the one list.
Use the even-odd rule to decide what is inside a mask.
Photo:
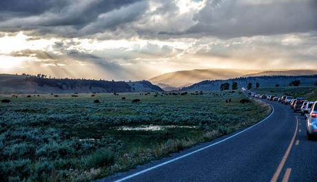
[(267, 102), (274, 112), (249, 130), (100, 181), (317, 181), (317, 141), (307, 141), (305, 120)]

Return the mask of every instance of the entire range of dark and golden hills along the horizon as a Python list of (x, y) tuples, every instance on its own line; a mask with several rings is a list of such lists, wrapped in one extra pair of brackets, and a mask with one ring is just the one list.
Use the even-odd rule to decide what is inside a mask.
[[(314, 75), (314, 77), (305, 77)], [(287, 85), (300, 79), (302, 85), (314, 85), (317, 70), (184, 70), (161, 74), (150, 81), (104, 81), (88, 79), (47, 79), (28, 75), (0, 74), (0, 94), (90, 93), (90, 92), (163, 92), (170, 90), (219, 90), (221, 83), (238, 85), (260, 83), (264, 87)], [(276, 76), (276, 77), (268, 77)], [(278, 77), (283, 76), (283, 77)], [(154, 84), (156, 85), (154, 85)], [(163, 88), (163, 89), (162, 89)]]

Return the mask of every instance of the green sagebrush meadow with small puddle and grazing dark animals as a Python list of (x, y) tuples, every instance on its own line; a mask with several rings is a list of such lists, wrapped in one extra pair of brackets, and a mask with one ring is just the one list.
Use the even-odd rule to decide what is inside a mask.
[(99, 179), (245, 128), (271, 110), (240, 103), (237, 91), (76, 96), (0, 96), (10, 99), (0, 103), (0, 181)]

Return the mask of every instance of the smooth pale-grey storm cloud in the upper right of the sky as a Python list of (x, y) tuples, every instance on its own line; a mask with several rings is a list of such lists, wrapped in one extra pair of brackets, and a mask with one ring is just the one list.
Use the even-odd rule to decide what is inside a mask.
[(197, 23), (183, 32), (160, 34), (232, 38), (314, 31), (317, 1), (208, 1), (194, 21)]

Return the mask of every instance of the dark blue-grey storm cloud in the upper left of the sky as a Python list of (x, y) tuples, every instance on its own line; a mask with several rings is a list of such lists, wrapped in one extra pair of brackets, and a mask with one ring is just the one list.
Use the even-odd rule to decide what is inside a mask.
[(80, 37), (85, 35), (80, 32), (82, 28), (98, 23), (100, 26), (92, 27), (94, 31), (85, 31), (87, 34), (94, 34), (105, 28), (116, 28), (121, 23), (133, 21), (134, 17), (146, 10), (144, 3), (140, 5), (142, 9), (130, 8), (114, 14), (115, 17), (107, 17), (107, 13), (133, 6), (137, 1), (140, 0), (4, 0), (0, 1), (0, 31), (30, 30), (33, 34)]

